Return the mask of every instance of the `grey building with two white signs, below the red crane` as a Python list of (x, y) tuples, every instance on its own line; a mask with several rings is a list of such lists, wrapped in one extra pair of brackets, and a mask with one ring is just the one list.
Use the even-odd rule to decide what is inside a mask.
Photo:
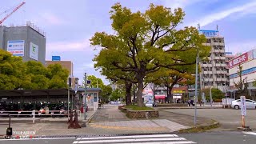
[(30, 22), (26, 26), (0, 26), (0, 49), (22, 57), (24, 62), (33, 60), (44, 64), (46, 36)]

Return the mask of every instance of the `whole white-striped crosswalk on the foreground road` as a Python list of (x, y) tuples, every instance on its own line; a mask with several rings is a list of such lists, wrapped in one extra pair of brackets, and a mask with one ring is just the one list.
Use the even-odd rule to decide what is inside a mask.
[(188, 144), (196, 143), (179, 138), (176, 134), (152, 134), (152, 135), (129, 135), (129, 136), (114, 136), (114, 137), (92, 137), (92, 138), (77, 138), (73, 143), (142, 143), (142, 144)]

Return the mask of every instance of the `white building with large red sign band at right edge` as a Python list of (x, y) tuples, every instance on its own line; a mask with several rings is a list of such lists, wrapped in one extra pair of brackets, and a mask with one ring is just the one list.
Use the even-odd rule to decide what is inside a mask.
[(256, 49), (241, 54), (228, 62), (230, 90), (237, 90), (234, 83), (240, 82), (239, 65), (242, 66), (242, 80), (245, 80), (251, 94), (256, 89), (253, 85), (253, 82), (256, 81)]

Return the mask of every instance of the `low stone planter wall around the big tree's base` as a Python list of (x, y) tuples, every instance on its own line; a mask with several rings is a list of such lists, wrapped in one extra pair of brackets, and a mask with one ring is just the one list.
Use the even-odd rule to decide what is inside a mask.
[(126, 110), (128, 118), (158, 118), (158, 110)]

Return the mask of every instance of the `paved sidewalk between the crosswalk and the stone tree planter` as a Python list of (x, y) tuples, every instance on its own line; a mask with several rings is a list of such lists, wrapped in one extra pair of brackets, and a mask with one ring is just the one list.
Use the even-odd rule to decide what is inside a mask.
[[(63, 135), (114, 135), (114, 134), (162, 134), (190, 128), (194, 126), (194, 117), (184, 114), (174, 114), (159, 110), (159, 118), (130, 119), (118, 110), (118, 106), (105, 105), (95, 114), (87, 113), (86, 127), (81, 129), (68, 129), (68, 124), (60, 122), (47, 123), (11, 123), (13, 131), (34, 131), (36, 135), (63, 136)], [(90, 116), (91, 117), (90, 117)], [(90, 118), (89, 118), (90, 117)], [(80, 123), (82, 122), (80, 117)], [(50, 120), (49, 120), (50, 121)], [(54, 120), (51, 120), (54, 121)], [(198, 125), (204, 126), (212, 122), (206, 118), (198, 118)], [(6, 134), (6, 126), (0, 125), (0, 135)]]

